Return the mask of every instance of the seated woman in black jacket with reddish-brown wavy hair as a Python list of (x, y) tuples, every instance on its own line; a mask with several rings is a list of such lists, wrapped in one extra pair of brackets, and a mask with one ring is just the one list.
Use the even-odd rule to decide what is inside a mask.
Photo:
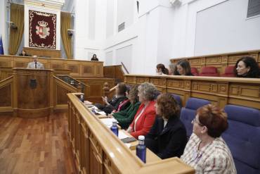
[(186, 128), (179, 119), (180, 108), (174, 97), (160, 94), (156, 104), (157, 118), (148, 135), (145, 145), (161, 159), (183, 154), (187, 143)]

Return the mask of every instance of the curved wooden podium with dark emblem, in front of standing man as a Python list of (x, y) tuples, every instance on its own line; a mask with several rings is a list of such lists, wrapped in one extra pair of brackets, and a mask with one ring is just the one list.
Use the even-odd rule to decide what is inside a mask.
[(53, 70), (13, 68), (13, 116), (38, 118), (53, 112)]

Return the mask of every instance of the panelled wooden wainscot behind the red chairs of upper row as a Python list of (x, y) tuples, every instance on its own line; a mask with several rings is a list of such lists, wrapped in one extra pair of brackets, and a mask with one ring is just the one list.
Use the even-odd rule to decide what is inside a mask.
[(235, 63), (242, 56), (252, 56), (256, 59), (256, 62), (260, 66), (260, 50), (251, 51), (240, 51), (233, 53), (224, 54), (212, 54), (204, 56), (193, 56), (193, 57), (183, 57), (183, 58), (172, 58), (171, 63), (176, 63), (181, 59), (186, 59), (190, 62), (190, 66), (197, 68), (200, 72), (200, 68), (203, 66), (214, 66), (218, 69), (219, 75), (225, 72), (226, 66), (235, 66)]

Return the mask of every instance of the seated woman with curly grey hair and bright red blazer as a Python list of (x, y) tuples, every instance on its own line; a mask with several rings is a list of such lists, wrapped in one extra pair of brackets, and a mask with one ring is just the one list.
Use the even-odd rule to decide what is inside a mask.
[(127, 129), (136, 139), (139, 135), (147, 135), (155, 123), (155, 94), (157, 89), (155, 85), (144, 82), (138, 87), (138, 97), (141, 105), (134, 116), (134, 120)]

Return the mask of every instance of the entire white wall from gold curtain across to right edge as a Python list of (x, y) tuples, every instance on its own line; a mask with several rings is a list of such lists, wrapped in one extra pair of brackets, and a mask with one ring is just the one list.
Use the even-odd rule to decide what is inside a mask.
[[(95, 52), (105, 65), (124, 61), (130, 73), (155, 74), (157, 63), (168, 66), (170, 58), (260, 49), (259, 17), (245, 19), (248, 0), (181, 0), (176, 7), (169, 0), (139, 0), (139, 13), (135, 0), (97, 0), (93, 40), (85, 20), (89, 1), (77, 1), (76, 57)], [(117, 32), (122, 21), (133, 22)]]

